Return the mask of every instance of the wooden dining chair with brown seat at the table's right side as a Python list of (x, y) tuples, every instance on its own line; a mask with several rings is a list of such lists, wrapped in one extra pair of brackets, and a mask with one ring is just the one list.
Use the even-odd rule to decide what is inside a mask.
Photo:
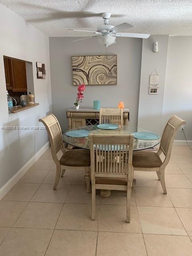
[[(164, 194), (167, 194), (164, 175), (165, 167), (170, 160), (175, 134), (182, 124), (186, 124), (186, 121), (182, 120), (178, 116), (172, 116), (164, 128), (157, 152), (146, 150), (133, 152), (134, 171), (156, 172), (158, 179), (161, 182)], [(162, 153), (164, 154), (163, 162), (160, 158), (160, 154)]]

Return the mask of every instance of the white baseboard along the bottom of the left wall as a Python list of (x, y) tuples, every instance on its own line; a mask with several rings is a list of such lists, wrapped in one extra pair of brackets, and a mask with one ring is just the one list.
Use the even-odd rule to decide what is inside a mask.
[(50, 147), (47, 142), (26, 164), (18, 170), (18, 172), (0, 188), (0, 200), (7, 194), (7, 192), (20, 180), (20, 178), (31, 168), (31, 166), (42, 156), (42, 154)]

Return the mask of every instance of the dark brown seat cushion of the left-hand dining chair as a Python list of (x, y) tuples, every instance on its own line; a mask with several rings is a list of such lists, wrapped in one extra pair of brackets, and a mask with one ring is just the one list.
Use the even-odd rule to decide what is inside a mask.
[(90, 150), (68, 150), (60, 158), (60, 164), (66, 166), (90, 166)]

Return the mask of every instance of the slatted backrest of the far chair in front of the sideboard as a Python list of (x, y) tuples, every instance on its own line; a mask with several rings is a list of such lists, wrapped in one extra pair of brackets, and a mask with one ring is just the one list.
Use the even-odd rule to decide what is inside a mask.
[(119, 108), (100, 108), (99, 124), (123, 125), (123, 110)]

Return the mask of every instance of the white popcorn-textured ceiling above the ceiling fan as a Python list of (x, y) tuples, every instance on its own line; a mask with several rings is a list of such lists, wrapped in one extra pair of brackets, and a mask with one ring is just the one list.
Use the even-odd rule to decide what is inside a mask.
[[(84, 12), (111, 12), (116, 26), (134, 25), (126, 32), (192, 35), (192, 0), (0, 0), (48, 36), (90, 36), (67, 28), (95, 30), (101, 16), (82, 18)], [(123, 31), (122, 31), (123, 32)]]

